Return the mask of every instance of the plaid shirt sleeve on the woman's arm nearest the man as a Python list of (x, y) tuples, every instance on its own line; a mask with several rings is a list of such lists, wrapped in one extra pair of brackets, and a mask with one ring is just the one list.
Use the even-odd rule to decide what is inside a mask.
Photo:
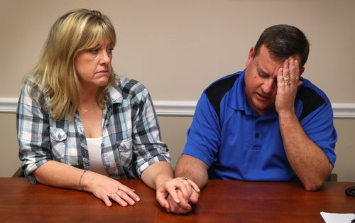
[(153, 102), (148, 90), (143, 85), (141, 88), (132, 106), (133, 164), (139, 176), (153, 163), (171, 163), (168, 147), (161, 140)]

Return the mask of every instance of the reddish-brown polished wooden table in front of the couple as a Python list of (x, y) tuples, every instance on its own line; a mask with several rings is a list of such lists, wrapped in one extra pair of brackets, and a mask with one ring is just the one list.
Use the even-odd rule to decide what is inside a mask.
[(0, 222), (324, 222), (320, 212), (355, 212), (355, 183), (327, 182), (307, 192), (300, 183), (210, 180), (190, 214), (165, 212), (155, 191), (140, 180), (121, 180), (136, 189), (133, 207), (104, 203), (87, 192), (30, 185), (24, 178), (0, 178)]

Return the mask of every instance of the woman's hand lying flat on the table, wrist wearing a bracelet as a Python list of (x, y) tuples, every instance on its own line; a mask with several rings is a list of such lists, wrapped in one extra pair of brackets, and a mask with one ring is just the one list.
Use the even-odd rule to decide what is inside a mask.
[(82, 188), (103, 200), (108, 207), (112, 205), (111, 200), (124, 207), (134, 205), (141, 200), (136, 195), (136, 190), (119, 183), (117, 180), (91, 171), (82, 175)]

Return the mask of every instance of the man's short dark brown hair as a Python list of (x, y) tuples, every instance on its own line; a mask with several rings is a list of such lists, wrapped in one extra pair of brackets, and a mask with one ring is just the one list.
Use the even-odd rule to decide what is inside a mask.
[(295, 26), (280, 24), (266, 28), (256, 42), (254, 57), (258, 55), (262, 45), (268, 48), (272, 56), (278, 59), (287, 59), (291, 55), (299, 54), (300, 67), (307, 62), (310, 53), (310, 43), (300, 29)]

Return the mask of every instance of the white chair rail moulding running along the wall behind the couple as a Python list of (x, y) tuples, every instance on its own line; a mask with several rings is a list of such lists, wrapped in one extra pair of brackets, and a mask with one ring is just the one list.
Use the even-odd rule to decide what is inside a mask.
[[(16, 113), (18, 99), (0, 98), (0, 114)], [(153, 101), (158, 116), (193, 116), (195, 101)], [(332, 103), (334, 119), (355, 119), (355, 103)]]

